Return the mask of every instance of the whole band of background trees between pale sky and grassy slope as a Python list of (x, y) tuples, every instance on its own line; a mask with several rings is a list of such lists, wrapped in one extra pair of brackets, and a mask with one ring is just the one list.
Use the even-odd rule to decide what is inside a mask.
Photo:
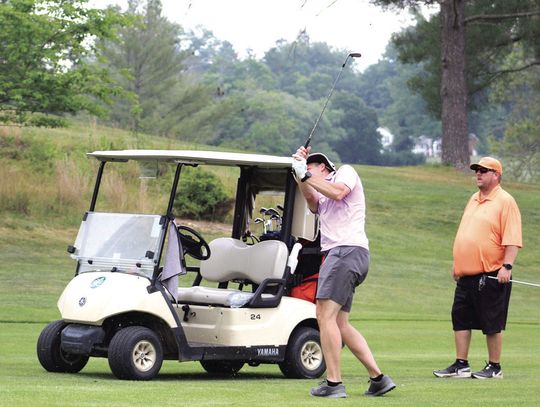
[[(540, 2), (372, 2), (440, 9), (416, 12), (379, 63), (344, 69), (317, 149), (343, 162), (417, 164), (415, 139), (441, 137), (443, 162), (462, 168), (475, 133), (481, 153), (509, 156), (517, 176), (534, 177)], [(169, 21), (159, 0), (130, 0), (125, 11), (2, 0), (0, 24), (0, 120), (58, 125), (87, 111), (135, 132), (271, 154), (305, 141), (348, 52), (303, 33), (239, 59), (211, 32)], [(395, 135), (386, 149), (379, 126)]]

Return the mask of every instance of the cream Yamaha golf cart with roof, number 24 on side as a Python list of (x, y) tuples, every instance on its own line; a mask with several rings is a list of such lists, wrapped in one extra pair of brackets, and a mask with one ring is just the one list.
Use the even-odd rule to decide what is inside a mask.
[[(179, 150), (88, 155), (100, 165), (89, 210), (68, 247), (75, 276), (58, 300), (61, 319), (37, 342), (47, 371), (76, 373), (92, 356), (108, 358), (113, 374), (128, 380), (154, 378), (163, 360), (199, 361), (211, 374), (235, 374), (246, 363), (278, 364), (291, 378), (324, 373), (315, 305), (290, 295), (303, 250), (298, 241), (318, 233), (290, 158)], [(163, 213), (96, 211), (106, 167), (128, 161), (173, 166)], [(210, 242), (173, 214), (182, 169), (205, 165), (239, 174), (232, 232)], [(273, 227), (255, 236), (255, 200), (268, 193), (282, 196), (281, 213), (270, 211), (262, 221)], [(189, 265), (188, 256), (200, 262)], [(188, 275), (193, 282), (182, 286)]]

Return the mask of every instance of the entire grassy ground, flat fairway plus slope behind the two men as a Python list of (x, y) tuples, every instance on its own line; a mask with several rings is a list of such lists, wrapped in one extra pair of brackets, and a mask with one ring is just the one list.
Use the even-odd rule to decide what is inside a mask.
[[(246, 366), (235, 378), (216, 379), (198, 363), (166, 361), (151, 382), (117, 380), (105, 359), (91, 359), (78, 374), (48, 373), (37, 360), (36, 340), (46, 323), (59, 318), (56, 300), (74, 272), (65, 248), (77, 226), (0, 214), (0, 405), (540, 405), (540, 288), (513, 287), (503, 380), (442, 380), (431, 373), (454, 358), (451, 249), (466, 199), (475, 191), (470, 174), (440, 167), (358, 170), (367, 195), (372, 265), (357, 290), (352, 320), (396, 390), (364, 397), (367, 375), (347, 349), (342, 371), (349, 397), (339, 401), (310, 397), (317, 380), (285, 379), (272, 365)], [(514, 277), (540, 282), (540, 187), (503, 186), (523, 217), (525, 247)], [(475, 332), (473, 369), (481, 369), (486, 358), (484, 338)]]

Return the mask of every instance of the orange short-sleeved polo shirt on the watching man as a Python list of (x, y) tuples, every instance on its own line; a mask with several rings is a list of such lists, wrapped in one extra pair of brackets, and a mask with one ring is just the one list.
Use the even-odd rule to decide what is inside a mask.
[(454, 270), (458, 277), (502, 267), (505, 246), (522, 247), (521, 214), (514, 198), (500, 185), (480, 200), (467, 202), (454, 240)]

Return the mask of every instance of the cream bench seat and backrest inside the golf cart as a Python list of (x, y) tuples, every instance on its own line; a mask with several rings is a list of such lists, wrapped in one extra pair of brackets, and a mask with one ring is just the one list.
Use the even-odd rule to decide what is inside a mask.
[(179, 287), (180, 303), (253, 308), (276, 307), (281, 301), (285, 280), (283, 274), (288, 259), (285, 243), (266, 240), (247, 245), (233, 238), (218, 238), (210, 242), (211, 256), (201, 261), (204, 280), (214, 283), (241, 281), (256, 284), (255, 293), (229, 288), (202, 286)]

